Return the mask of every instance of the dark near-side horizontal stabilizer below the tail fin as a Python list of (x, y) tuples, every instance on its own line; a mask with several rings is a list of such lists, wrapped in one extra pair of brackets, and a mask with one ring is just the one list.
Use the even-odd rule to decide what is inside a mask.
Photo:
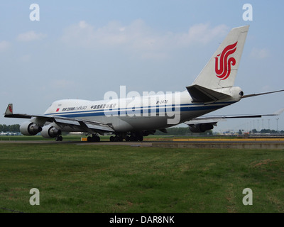
[(186, 88), (187, 92), (189, 92), (190, 96), (192, 97), (192, 102), (211, 103), (220, 99), (226, 99), (230, 97), (227, 94), (216, 92), (212, 89), (207, 89), (206, 87), (202, 87), (197, 84), (188, 86)]

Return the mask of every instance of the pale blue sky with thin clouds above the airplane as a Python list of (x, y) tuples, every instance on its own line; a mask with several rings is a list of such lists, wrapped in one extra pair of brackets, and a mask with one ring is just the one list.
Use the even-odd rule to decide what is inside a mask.
[[(252, 6), (252, 21), (244, 20), (244, 4)], [(43, 114), (55, 100), (101, 100), (106, 92), (119, 94), (120, 86), (141, 95), (183, 91), (231, 28), (245, 25), (235, 86), (244, 94), (284, 89), (283, 6), (259, 0), (1, 1), (0, 110), (13, 103), (15, 113)], [(242, 99), (210, 115), (272, 114), (284, 107), (283, 96)], [(0, 124), (23, 121), (0, 116)], [(214, 131), (276, 129), (276, 123), (284, 130), (284, 114), (231, 119)]]

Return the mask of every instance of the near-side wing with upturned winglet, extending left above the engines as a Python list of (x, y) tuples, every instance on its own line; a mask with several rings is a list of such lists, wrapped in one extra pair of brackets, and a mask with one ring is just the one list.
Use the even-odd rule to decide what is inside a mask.
[(98, 121), (86, 121), (77, 118), (64, 118), (60, 116), (13, 114), (13, 106), (8, 105), (4, 117), (6, 118), (37, 118), (36, 120), (44, 124), (45, 122), (54, 122), (60, 127), (70, 126), (71, 128), (80, 128), (88, 133), (109, 133), (114, 132), (111, 126)]

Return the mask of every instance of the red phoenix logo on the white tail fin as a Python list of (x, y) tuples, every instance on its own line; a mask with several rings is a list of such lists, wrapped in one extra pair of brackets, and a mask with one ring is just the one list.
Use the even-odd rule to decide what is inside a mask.
[[(231, 65), (236, 65), (236, 59), (229, 57), (236, 51), (236, 44), (238, 42), (226, 46), (221, 54), (215, 57), (215, 72), (220, 79), (226, 79), (231, 74)], [(221, 56), (220, 56), (221, 55)], [(220, 61), (220, 62), (219, 62)]]

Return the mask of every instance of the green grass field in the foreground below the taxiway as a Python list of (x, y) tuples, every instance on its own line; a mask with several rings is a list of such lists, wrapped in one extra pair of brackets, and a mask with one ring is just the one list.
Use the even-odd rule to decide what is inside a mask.
[(0, 143), (0, 212), (283, 212), (283, 179), (283, 150)]

